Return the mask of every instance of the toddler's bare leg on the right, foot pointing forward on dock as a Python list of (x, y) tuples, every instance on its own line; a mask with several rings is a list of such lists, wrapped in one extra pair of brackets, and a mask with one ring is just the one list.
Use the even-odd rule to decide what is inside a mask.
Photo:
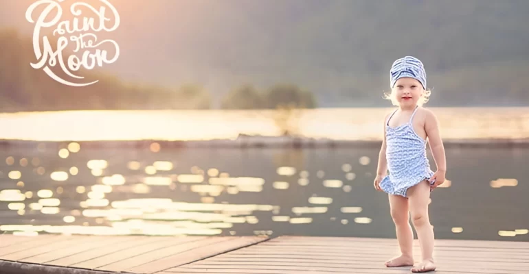
[(428, 203), (430, 197), (430, 185), (427, 181), (409, 188), (409, 209), (412, 213), (417, 237), (419, 239), (420, 250), (423, 256), (423, 262), (415, 266), (413, 272), (434, 271), (434, 228), (430, 224), (428, 216)]

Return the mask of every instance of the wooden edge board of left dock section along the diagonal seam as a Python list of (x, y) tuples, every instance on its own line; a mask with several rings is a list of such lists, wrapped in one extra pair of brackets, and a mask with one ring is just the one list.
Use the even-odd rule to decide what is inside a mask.
[(262, 242), (267, 240), (267, 237), (260, 236), (245, 236), (245, 237), (226, 237), (229, 240), (219, 242), (216, 245), (207, 245), (204, 247), (197, 247), (193, 249), (192, 252), (186, 252), (183, 254), (176, 254), (151, 262), (149, 264), (144, 264), (142, 266), (137, 266), (130, 269), (131, 272), (135, 273), (155, 273), (157, 271), (164, 271), (165, 269), (170, 269), (174, 266), (180, 266), (183, 264), (188, 264), (196, 260), (203, 260), (204, 258), (209, 258), (211, 256), (218, 255), (219, 253), (224, 253), (227, 251), (232, 251), (240, 247), (247, 247), (249, 245), (254, 245), (257, 242)]

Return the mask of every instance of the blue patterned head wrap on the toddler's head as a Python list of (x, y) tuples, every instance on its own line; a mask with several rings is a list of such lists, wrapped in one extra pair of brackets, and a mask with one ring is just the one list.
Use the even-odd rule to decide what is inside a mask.
[(423, 62), (420, 62), (413, 56), (405, 56), (395, 60), (390, 70), (391, 87), (395, 86), (395, 82), (402, 77), (412, 77), (416, 79), (423, 88), (426, 89), (426, 71)]

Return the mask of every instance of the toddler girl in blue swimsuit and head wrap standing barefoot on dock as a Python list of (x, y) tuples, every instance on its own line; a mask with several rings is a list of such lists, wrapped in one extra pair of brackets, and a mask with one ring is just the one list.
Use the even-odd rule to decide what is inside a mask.
[[(384, 120), (374, 188), (389, 196), (401, 256), (385, 265), (414, 266), (411, 213), (422, 253), (422, 261), (412, 267), (412, 272), (434, 271), (434, 228), (430, 225), (428, 204), (431, 190), (444, 182), (447, 166), (438, 120), (431, 110), (422, 107), (430, 94), (423, 63), (412, 56), (396, 60), (390, 70), (390, 84), (389, 99), (398, 108)], [(427, 159), (427, 142), (436, 162), (435, 173)]]

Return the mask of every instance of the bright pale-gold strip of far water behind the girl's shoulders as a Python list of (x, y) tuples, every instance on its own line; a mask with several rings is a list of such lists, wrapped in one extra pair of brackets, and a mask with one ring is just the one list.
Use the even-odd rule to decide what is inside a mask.
[[(380, 142), (394, 108), (0, 114), (0, 140), (157, 140), (169, 147), (328, 147)], [(529, 108), (437, 108), (451, 144), (529, 140)], [(302, 136), (302, 139), (289, 136)], [(210, 140), (207, 143), (201, 140)], [(174, 142), (172, 142), (174, 141)], [(113, 141), (109, 141), (113, 142)], [(126, 141), (128, 142), (128, 141)], [(301, 143), (301, 145), (300, 145)], [(124, 143), (122, 142), (122, 145)], [(133, 145), (137, 146), (137, 144)]]

